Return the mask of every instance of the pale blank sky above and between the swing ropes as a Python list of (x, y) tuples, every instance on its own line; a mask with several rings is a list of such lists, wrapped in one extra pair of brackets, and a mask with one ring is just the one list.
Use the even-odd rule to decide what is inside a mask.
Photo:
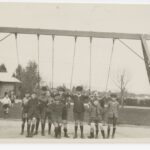
[[(99, 32), (150, 34), (150, 5), (117, 4), (32, 4), (0, 3), (1, 27), (26, 27), (43, 29), (66, 29)], [(6, 34), (0, 34), (0, 38)], [(143, 57), (140, 41), (123, 40)], [(150, 42), (147, 41), (150, 49)], [(43, 81), (52, 80), (52, 38), (40, 36), (39, 69)], [(54, 86), (70, 85), (73, 61), (73, 37), (55, 37), (54, 42)], [(104, 91), (108, 75), (112, 39), (92, 40), (91, 88)], [(29, 60), (37, 62), (36, 35), (18, 35), (19, 61), (26, 66)], [(0, 63), (9, 73), (17, 67), (15, 37), (11, 35), (0, 42)], [(90, 39), (77, 38), (73, 85), (89, 86)], [(150, 93), (150, 85), (144, 61), (131, 53), (118, 40), (110, 70), (108, 90), (118, 91), (114, 84), (118, 73), (126, 71), (129, 83), (127, 90), (134, 93)]]

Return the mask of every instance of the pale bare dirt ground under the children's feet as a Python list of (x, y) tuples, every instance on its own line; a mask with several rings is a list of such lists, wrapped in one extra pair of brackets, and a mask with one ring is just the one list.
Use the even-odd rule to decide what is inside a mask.
[[(29, 139), (26, 138), (26, 132), (24, 135), (20, 135), (20, 127), (21, 127), (21, 121), (20, 120), (7, 120), (7, 119), (1, 119), (0, 120), (0, 140), (1, 139), (6, 139), (6, 138), (11, 138), (13, 139)], [(33, 139), (54, 139), (54, 128), (52, 127), (52, 134), (48, 135), (47, 134), (47, 126), (46, 126), (46, 135), (41, 136), (40, 132), (39, 135), (34, 136)], [(107, 129), (107, 126), (104, 127), (105, 131)], [(26, 128), (25, 128), (26, 129)], [(62, 133), (63, 134), (63, 133)], [(74, 134), (74, 125), (73, 123), (68, 124), (68, 134), (70, 136), (70, 139), (73, 139), (73, 134)], [(78, 131), (79, 137), (80, 137), (80, 131)], [(85, 135), (85, 141), (88, 140), (88, 135), (89, 135), (89, 126), (85, 124), (84, 126), (84, 135)], [(136, 138), (136, 139), (135, 139)], [(116, 137), (115, 140), (117, 139), (122, 139), (122, 141), (126, 141), (128, 139), (141, 139), (141, 138), (146, 138), (150, 142), (150, 127), (144, 127), (144, 126), (129, 126), (129, 125), (120, 125), (117, 127), (116, 131)], [(67, 138), (62, 138), (63, 140), (68, 140)], [(80, 139), (80, 138), (79, 138)], [(103, 140), (101, 137), (101, 134), (99, 134), (99, 139), (95, 140)], [(106, 139), (107, 140), (107, 139)], [(114, 140), (114, 139), (113, 139)], [(105, 140), (103, 140), (105, 141)]]

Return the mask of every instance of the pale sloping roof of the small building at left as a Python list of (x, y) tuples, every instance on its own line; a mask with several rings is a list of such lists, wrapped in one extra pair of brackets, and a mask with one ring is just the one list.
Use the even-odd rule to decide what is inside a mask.
[(0, 72), (0, 82), (20, 83), (18, 79), (12, 77), (12, 75), (7, 72)]

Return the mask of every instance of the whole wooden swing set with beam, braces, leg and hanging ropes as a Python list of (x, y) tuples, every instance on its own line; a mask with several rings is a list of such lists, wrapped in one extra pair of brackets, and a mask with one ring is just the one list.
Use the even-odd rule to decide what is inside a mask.
[[(73, 51), (73, 59), (72, 59), (72, 68), (71, 68), (71, 78), (70, 78), (70, 90), (72, 89), (73, 84), (73, 75), (74, 75), (74, 66), (75, 66), (75, 56), (76, 56), (76, 49), (77, 49), (77, 39), (78, 37), (87, 37), (89, 38), (90, 47), (90, 66), (89, 66), (89, 90), (91, 90), (91, 79), (92, 79), (92, 40), (93, 38), (107, 38), (112, 39), (112, 49), (111, 55), (109, 59), (109, 67), (107, 73), (107, 80), (106, 80), (106, 89), (108, 90), (109, 78), (110, 78), (110, 71), (111, 71), (111, 63), (112, 57), (114, 52), (114, 44), (115, 41), (118, 40), (122, 43), (128, 50), (130, 50), (133, 54), (139, 57), (141, 60), (145, 62), (145, 67), (147, 70), (147, 75), (150, 83), (150, 52), (148, 50), (147, 40), (150, 40), (150, 34), (132, 34), (132, 33), (113, 33), (113, 32), (92, 32), (92, 31), (71, 31), (71, 30), (50, 30), (50, 29), (35, 29), (35, 28), (14, 28), (14, 27), (0, 27), (0, 33), (8, 33), (5, 37), (0, 39), (0, 42), (5, 40), (11, 35), (15, 35), (16, 41), (16, 54), (17, 54), (17, 63), (20, 65), (19, 60), (19, 50), (18, 50), (18, 34), (33, 34), (37, 36), (37, 52), (38, 52), (38, 78), (39, 76), (39, 40), (40, 35), (50, 35), (52, 37), (52, 70), (51, 70), (51, 78), (52, 78), (52, 86), (54, 88), (54, 44), (55, 44), (55, 37), (56, 36), (68, 36), (74, 37), (74, 51)], [(141, 57), (135, 50), (133, 50), (129, 45), (122, 41), (122, 39), (129, 39), (129, 40), (139, 40), (142, 45), (143, 57)], [(40, 83), (38, 83), (38, 88), (40, 88)]]

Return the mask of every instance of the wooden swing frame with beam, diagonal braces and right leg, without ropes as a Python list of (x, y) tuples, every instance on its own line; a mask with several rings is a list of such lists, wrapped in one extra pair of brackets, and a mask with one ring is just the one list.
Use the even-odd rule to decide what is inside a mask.
[[(51, 35), (54, 36), (71, 36), (75, 37), (88, 37), (92, 38), (107, 38), (107, 39), (128, 39), (128, 40), (140, 40), (143, 50), (143, 56), (145, 61), (145, 67), (150, 83), (150, 52), (148, 50), (147, 40), (150, 40), (150, 34), (135, 34), (135, 33), (115, 33), (115, 32), (93, 32), (93, 31), (73, 31), (73, 30), (52, 30), (52, 29), (39, 29), (39, 28), (17, 28), (17, 27), (0, 27), (0, 33), (9, 33), (2, 40), (10, 36), (11, 34), (33, 34), (37, 35)], [(123, 43), (123, 42), (121, 42)], [(128, 49), (136, 54), (128, 45), (123, 43)], [(90, 48), (91, 49), (91, 48)], [(90, 60), (91, 61), (91, 60)], [(91, 68), (90, 68), (91, 69)], [(91, 76), (91, 73), (90, 73)], [(90, 85), (91, 86), (91, 85)]]

